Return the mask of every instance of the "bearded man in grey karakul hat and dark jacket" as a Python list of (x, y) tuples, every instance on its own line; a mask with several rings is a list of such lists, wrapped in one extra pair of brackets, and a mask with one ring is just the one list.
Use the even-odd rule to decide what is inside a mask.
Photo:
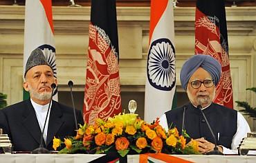
[[(34, 50), (26, 63), (24, 89), (30, 99), (0, 110), (0, 128), (7, 133), (14, 151), (33, 151), (40, 144), (40, 138), (48, 106), (50, 112), (44, 130), (44, 146), (53, 150), (53, 137), (64, 138), (75, 135), (73, 109), (51, 100), (51, 85), (57, 83), (53, 68), (42, 50)], [(83, 124), (82, 114), (76, 111), (77, 123)]]

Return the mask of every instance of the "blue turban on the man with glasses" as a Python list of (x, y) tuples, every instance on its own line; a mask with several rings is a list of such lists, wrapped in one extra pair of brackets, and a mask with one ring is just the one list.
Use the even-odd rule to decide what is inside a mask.
[(185, 61), (183, 67), (181, 68), (181, 86), (183, 89), (187, 89), (188, 80), (196, 69), (199, 67), (205, 69), (212, 76), (214, 80), (214, 85), (219, 83), (221, 78), (221, 64), (216, 59), (209, 55), (197, 54)]

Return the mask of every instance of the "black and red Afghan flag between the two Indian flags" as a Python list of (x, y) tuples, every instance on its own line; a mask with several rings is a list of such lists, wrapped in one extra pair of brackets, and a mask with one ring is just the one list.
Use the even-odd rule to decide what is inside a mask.
[(84, 121), (107, 120), (122, 111), (115, 0), (91, 1), (84, 89)]

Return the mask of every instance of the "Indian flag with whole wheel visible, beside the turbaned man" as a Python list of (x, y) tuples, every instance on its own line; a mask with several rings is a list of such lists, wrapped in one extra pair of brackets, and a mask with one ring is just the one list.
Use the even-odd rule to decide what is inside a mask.
[(176, 91), (172, 0), (152, 0), (145, 84), (145, 120), (172, 109)]

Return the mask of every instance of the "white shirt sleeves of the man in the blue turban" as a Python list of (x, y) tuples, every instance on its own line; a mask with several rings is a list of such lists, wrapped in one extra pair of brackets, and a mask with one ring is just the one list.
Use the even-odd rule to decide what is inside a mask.
[[(160, 124), (166, 131), (168, 131), (167, 118), (165, 114), (161, 116)], [(225, 146), (222, 146), (223, 154), (238, 154), (237, 147), (241, 143), (241, 140), (247, 137), (247, 133), (250, 133), (250, 127), (246, 122), (246, 119), (244, 118), (244, 116), (242, 116), (241, 113), (237, 112), (237, 132), (232, 138), (231, 149), (228, 149)], [(248, 154), (250, 154), (250, 152), (254, 153), (255, 151), (249, 151)]]

